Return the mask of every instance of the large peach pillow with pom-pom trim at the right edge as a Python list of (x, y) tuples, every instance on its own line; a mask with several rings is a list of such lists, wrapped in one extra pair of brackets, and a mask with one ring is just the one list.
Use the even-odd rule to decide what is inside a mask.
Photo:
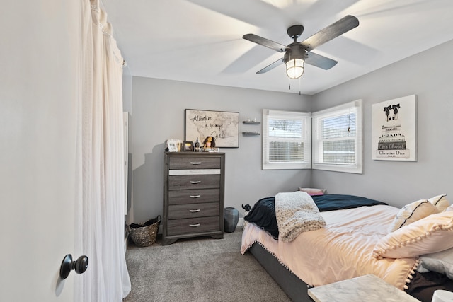
[(453, 211), (443, 211), (382, 237), (374, 257), (408, 258), (453, 248)]

